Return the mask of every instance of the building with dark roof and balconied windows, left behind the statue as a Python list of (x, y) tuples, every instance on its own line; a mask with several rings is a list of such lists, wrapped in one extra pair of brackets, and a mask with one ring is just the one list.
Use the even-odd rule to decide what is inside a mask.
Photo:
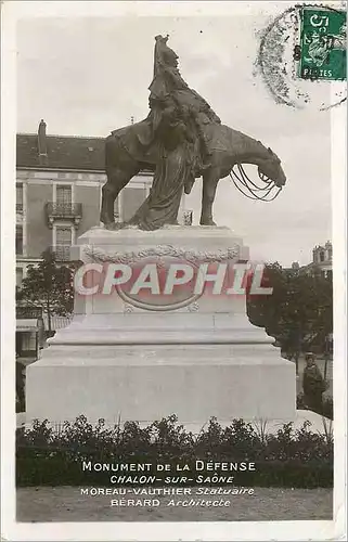
[[(16, 140), (16, 283), (28, 266), (52, 248), (57, 261), (68, 261), (76, 238), (100, 224), (104, 171), (104, 138), (48, 136), (40, 121), (37, 133)], [(127, 221), (147, 197), (153, 173), (141, 171), (115, 202), (115, 220)], [(181, 203), (179, 221), (192, 214)]]

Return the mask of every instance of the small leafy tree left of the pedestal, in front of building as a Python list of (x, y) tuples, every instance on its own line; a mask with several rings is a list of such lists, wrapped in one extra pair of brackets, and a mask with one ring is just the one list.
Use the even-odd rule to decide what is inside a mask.
[(52, 315), (66, 315), (74, 308), (74, 266), (60, 266), (55, 255), (46, 250), (38, 266), (29, 266), (27, 276), (16, 292), (21, 305), (41, 308), (48, 317), (49, 332), (52, 332)]

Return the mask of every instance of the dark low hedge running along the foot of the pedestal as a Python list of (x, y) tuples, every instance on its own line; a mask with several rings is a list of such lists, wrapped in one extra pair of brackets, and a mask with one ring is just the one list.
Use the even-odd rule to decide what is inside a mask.
[[(206, 428), (193, 435), (177, 424), (175, 415), (144, 428), (134, 422), (107, 427), (103, 420), (93, 426), (79, 416), (74, 423), (65, 423), (60, 431), (50, 428), (47, 421), (36, 421), (29, 429), (16, 431), (18, 487), (109, 486), (111, 473), (82, 470), (83, 461), (149, 463), (152, 467), (146, 475), (155, 473), (156, 464), (167, 463), (172, 469), (167, 474), (173, 475), (177, 464), (188, 464), (193, 472), (196, 460), (254, 462), (255, 470), (232, 473), (233, 485), (243, 487), (333, 486), (332, 431), (313, 433), (308, 422), (298, 430), (286, 424), (269, 435), (262, 425), (233, 420), (223, 428), (212, 417)], [(199, 472), (203, 476), (212, 474)]]

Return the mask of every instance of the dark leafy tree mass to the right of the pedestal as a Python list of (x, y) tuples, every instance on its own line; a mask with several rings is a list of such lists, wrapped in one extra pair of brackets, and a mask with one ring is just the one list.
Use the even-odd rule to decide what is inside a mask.
[(305, 347), (324, 351), (333, 330), (332, 278), (275, 262), (266, 267), (266, 282), (272, 295), (248, 297), (252, 323), (265, 327), (296, 363)]

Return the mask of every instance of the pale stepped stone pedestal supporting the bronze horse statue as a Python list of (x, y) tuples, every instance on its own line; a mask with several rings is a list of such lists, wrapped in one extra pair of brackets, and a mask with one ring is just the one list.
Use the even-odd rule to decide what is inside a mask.
[[(155, 232), (95, 228), (78, 238), (72, 258), (85, 263), (169, 263), (247, 260), (227, 228), (168, 227)], [(90, 276), (87, 286), (95, 281)], [(293, 421), (295, 365), (274, 339), (253, 326), (243, 295), (76, 296), (72, 324), (27, 367), (27, 421), (151, 423), (170, 414), (186, 425), (211, 416)]]

